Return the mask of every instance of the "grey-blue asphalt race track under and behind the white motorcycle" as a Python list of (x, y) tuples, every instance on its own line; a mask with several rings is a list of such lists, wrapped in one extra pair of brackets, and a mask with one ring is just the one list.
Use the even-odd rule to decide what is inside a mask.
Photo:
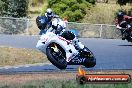
[[(0, 35), (0, 46), (36, 49), (38, 36)], [(132, 70), (132, 43), (121, 39), (80, 38), (95, 55), (97, 65), (85, 70)], [(78, 66), (70, 65), (66, 71), (76, 71)], [(52, 64), (0, 67), (0, 73), (60, 71)]]

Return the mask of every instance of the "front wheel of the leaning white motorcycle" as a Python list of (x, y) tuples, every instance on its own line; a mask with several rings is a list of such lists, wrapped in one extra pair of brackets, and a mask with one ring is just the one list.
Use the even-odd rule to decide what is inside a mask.
[(59, 69), (66, 69), (67, 62), (64, 49), (56, 44), (52, 43), (46, 48), (46, 55), (48, 60)]

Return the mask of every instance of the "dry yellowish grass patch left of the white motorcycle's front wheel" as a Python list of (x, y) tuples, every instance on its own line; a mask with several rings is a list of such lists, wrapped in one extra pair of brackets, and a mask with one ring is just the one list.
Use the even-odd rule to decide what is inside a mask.
[(33, 49), (0, 47), (0, 66), (46, 63), (46, 55)]

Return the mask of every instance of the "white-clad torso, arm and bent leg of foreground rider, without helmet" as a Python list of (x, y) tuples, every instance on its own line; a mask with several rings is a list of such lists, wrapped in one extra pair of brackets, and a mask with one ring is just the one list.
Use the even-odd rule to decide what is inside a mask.
[(64, 38), (66, 38), (67, 40), (72, 40), (72, 42), (77, 50), (83, 50), (84, 45), (79, 41), (77, 36), (74, 33), (72, 33), (70, 30), (65, 30), (67, 27), (67, 23), (68, 23), (68, 21), (66, 20), (66, 18), (64, 18), (63, 21), (60, 18), (53, 19), (52, 28), (56, 30), (55, 34), (60, 35)]

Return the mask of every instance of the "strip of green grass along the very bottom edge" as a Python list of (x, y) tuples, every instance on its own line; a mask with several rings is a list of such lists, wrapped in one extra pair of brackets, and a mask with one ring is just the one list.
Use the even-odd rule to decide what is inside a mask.
[(25, 84), (3, 85), (0, 88), (132, 88), (129, 84), (84, 84), (80, 85), (75, 80), (39, 80)]

